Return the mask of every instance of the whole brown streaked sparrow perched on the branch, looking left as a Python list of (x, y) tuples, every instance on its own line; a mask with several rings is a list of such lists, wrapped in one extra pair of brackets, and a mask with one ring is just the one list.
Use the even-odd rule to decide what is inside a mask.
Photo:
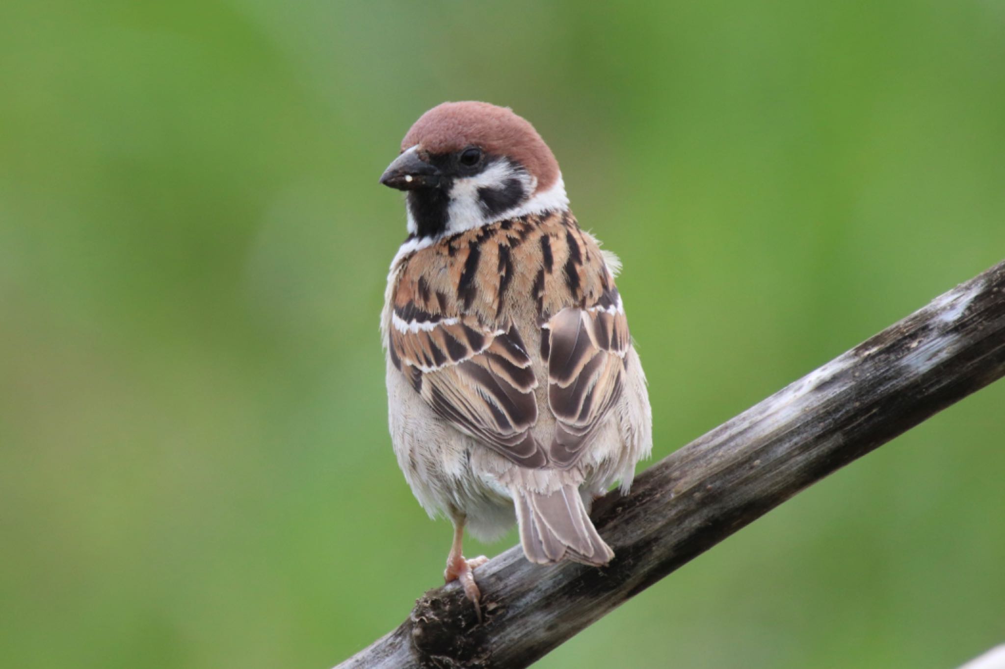
[(620, 262), (580, 229), (554, 154), (508, 107), (426, 111), (380, 183), (405, 192), (408, 227), (381, 316), (391, 439), (419, 503), (453, 523), (444, 579), (480, 620), (487, 559), (463, 557), (465, 528), (493, 541), (516, 518), (542, 565), (614, 557), (590, 506), (627, 490), (652, 448)]

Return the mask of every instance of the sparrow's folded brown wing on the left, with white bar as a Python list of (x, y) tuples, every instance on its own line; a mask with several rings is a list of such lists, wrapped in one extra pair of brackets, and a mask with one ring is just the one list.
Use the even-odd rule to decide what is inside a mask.
[(406, 322), (416, 327), (391, 327), (391, 361), (433, 411), (518, 464), (547, 464), (531, 434), (538, 379), (517, 328), (491, 330), (472, 316)]

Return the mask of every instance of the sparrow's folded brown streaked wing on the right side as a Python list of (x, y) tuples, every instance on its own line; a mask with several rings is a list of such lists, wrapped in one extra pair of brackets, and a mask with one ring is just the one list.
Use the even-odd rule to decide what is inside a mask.
[[(615, 294), (616, 295), (616, 294)], [(628, 321), (620, 307), (567, 307), (545, 326), (548, 404), (555, 415), (552, 464), (576, 463), (621, 394)]]

